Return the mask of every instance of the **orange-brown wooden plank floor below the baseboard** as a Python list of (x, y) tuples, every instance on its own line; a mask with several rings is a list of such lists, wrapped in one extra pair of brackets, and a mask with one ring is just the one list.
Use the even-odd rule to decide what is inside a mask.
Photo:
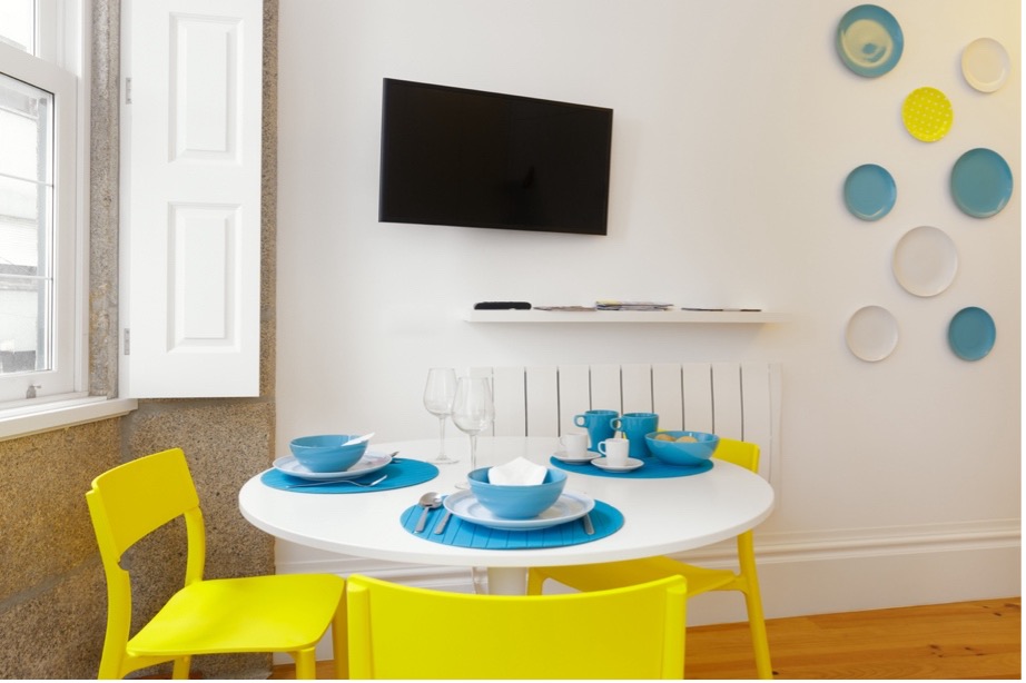
[[(1020, 600), (767, 622), (777, 679), (1019, 679)], [(688, 630), (689, 679), (754, 677), (747, 624)], [(332, 677), (332, 664), (317, 676)], [(272, 679), (290, 679), (276, 666)]]

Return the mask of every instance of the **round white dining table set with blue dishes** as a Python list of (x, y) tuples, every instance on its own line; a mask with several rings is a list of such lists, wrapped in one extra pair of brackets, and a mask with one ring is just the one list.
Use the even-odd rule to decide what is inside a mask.
[[(517, 456), (549, 465), (558, 439), (481, 437), (477, 466), (499, 465)], [(437, 439), (373, 443), (371, 451), (398, 458), (431, 462)], [(436, 478), (391, 491), (310, 494), (265, 486), (260, 475), (239, 492), (246, 519), (268, 534), (326, 551), (412, 564), (487, 567), (492, 593), (522, 594), (530, 566), (590, 564), (687, 551), (737, 536), (766, 519), (773, 489), (766, 479), (717, 461), (704, 473), (671, 478), (591, 476), (570, 473), (566, 491), (586, 494), (616, 507), (624, 516), (614, 534), (580, 545), (539, 550), (476, 550), (432, 543), (405, 531), (399, 515), (426, 492), (455, 493), (470, 469), (466, 437), (446, 439), (454, 465), (440, 465)], [(300, 489), (302, 491), (302, 489)], [(436, 511), (431, 526), (444, 511)]]

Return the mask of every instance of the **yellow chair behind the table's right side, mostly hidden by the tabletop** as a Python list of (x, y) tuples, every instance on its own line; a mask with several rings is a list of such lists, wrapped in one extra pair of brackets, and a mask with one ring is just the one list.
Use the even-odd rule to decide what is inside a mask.
[[(740, 467), (759, 471), (759, 446), (731, 438), (721, 438), (714, 457)], [(625, 562), (608, 562), (580, 566), (534, 567), (527, 573), (527, 593), (540, 595), (546, 580), (553, 578), (579, 591), (605, 591), (619, 586), (655, 581), (665, 576), (683, 576), (688, 580), (688, 597), (708, 591), (740, 591), (748, 607), (748, 625), (756, 651), (756, 671), (760, 679), (772, 679), (769, 642), (766, 637), (766, 620), (762, 615), (762, 597), (759, 593), (759, 577), (756, 574), (756, 553), (752, 533), (747, 531), (737, 537), (740, 571), (709, 570), (684, 564), (669, 557), (648, 557)]]

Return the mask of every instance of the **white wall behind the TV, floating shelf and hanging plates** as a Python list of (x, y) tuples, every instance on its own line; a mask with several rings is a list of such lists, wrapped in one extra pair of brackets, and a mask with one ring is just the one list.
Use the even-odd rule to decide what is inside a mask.
[[(850, 72), (833, 48), (855, 4), (283, 2), (278, 451), (324, 430), (434, 434), (421, 405), (433, 365), (780, 360), (779, 505), (759, 534), (764, 573), (779, 586), (772, 597), (766, 588), (771, 614), (1016, 593), (1019, 3), (882, 3), (906, 48), (878, 79)], [(984, 36), (1016, 66), (990, 95), (959, 69), (963, 48)], [(385, 77), (614, 109), (609, 235), (378, 224)], [(946, 92), (955, 109), (938, 142), (912, 139), (900, 120), (906, 95), (921, 86)], [(1014, 169), (1012, 202), (989, 219), (961, 214), (947, 189), (951, 165), (974, 147)], [(842, 201), (845, 177), (865, 162), (898, 185), (897, 206), (877, 222)], [(920, 225), (945, 230), (959, 253), (954, 284), (933, 298), (908, 294), (890, 270), (895, 244)], [(460, 319), (477, 300), (596, 298), (758, 306), (795, 320)], [(845, 344), (848, 318), (867, 304), (900, 325), (896, 352), (877, 364)], [(997, 325), (993, 353), (976, 363), (946, 342), (948, 320), (970, 305)], [(908, 563), (896, 561), (902, 555)], [(806, 590), (805, 573), (849, 560), (871, 588), (823, 591), (813, 605), (789, 600)], [(895, 576), (900, 566), (907, 576)]]

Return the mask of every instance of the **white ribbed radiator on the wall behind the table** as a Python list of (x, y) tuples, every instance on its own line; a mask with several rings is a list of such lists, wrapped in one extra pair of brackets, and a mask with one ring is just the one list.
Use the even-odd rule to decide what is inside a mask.
[(759, 444), (770, 479), (780, 438), (780, 365), (684, 363), (477, 367), (491, 377), (496, 436), (559, 436), (580, 430), (590, 409), (657, 413), (662, 429), (711, 432)]

